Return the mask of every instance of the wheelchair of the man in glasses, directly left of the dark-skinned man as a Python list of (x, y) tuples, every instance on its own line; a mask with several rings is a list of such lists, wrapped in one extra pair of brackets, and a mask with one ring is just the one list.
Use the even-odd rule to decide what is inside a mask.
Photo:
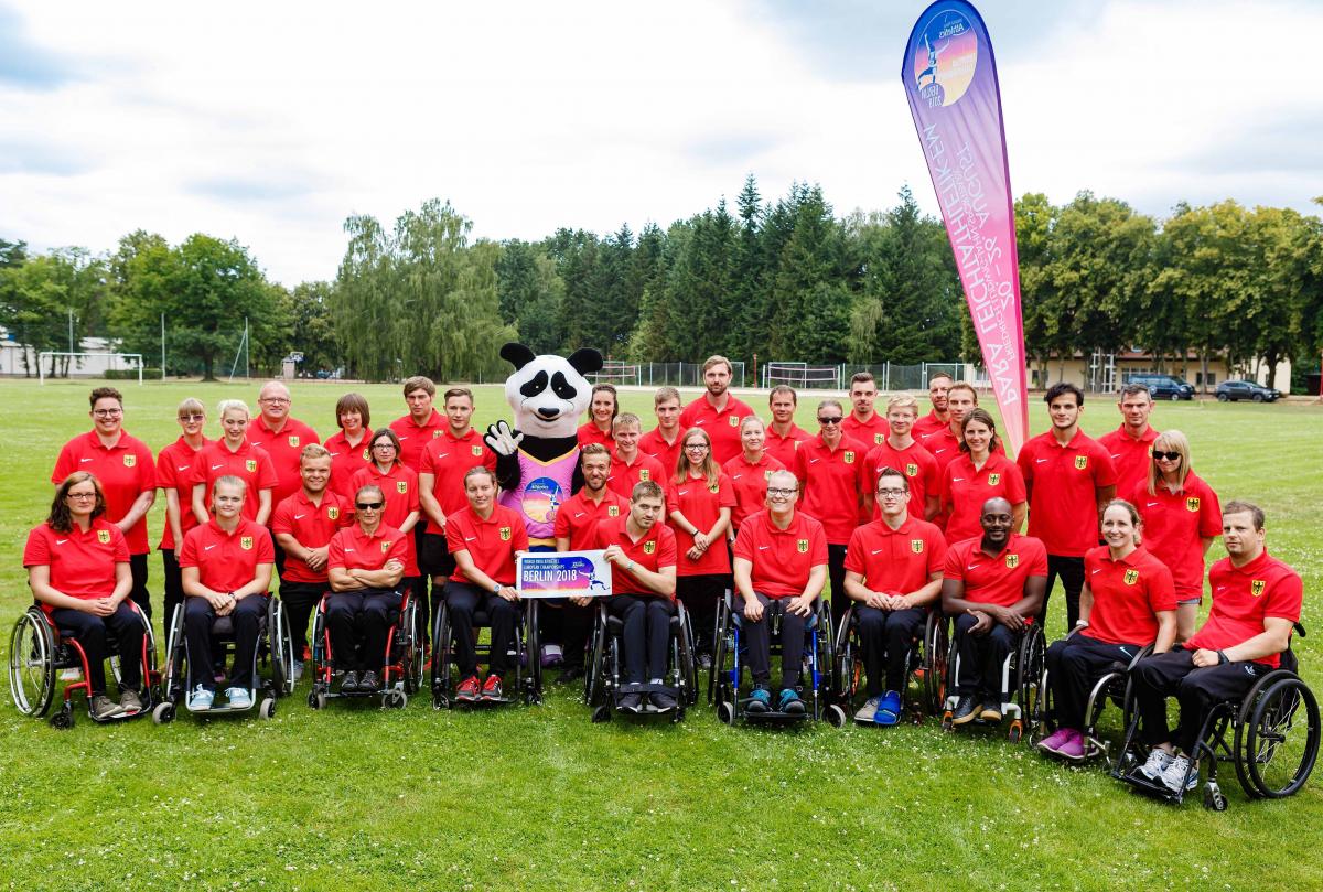
[[(844, 715), (852, 716), (859, 708), (857, 700), (863, 690), (864, 651), (859, 634), (859, 615), (853, 603), (845, 609), (836, 633), (836, 662), (832, 670), (832, 690)], [(922, 721), (925, 715), (937, 715), (946, 700), (946, 660), (950, 650), (950, 623), (941, 609), (934, 606), (927, 611), (923, 630), (910, 643), (909, 680), (917, 683), (917, 695), (908, 699), (905, 708)], [(905, 700), (909, 683), (900, 692)], [(835, 713), (828, 713), (831, 719)]]

